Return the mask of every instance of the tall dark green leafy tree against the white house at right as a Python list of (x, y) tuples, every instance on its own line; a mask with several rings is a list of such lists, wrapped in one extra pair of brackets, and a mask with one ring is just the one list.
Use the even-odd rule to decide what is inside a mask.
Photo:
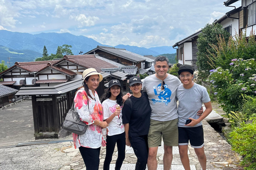
[[(198, 66), (198, 80), (204, 81), (210, 74), (210, 70), (215, 69), (212, 65), (215, 63), (209, 62), (209, 57), (212, 54), (216, 54), (211, 45), (218, 45), (218, 37), (228, 41), (230, 34), (222, 28), (222, 25), (217, 24), (206, 24), (202, 29), (202, 33), (198, 35), (197, 39), (197, 66)], [(214, 61), (213, 61), (214, 62)]]

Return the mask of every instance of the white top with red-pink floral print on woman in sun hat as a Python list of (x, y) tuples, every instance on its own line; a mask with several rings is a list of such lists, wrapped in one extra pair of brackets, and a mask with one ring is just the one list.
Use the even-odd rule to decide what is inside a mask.
[[(89, 92), (94, 97), (90, 89)], [(87, 98), (89, 98), (89, 104)], [(95, 98), (91, 98), (87, 96), (84, 88), (81, 88), (75, 95), (74, 103), (81, 120), (88, 125), (83, 135), (73, 133), (75, 149), (81, 146), (86, 148), (106, 146), (106, 141), (102, 138), (101, 127), (93, 124), (95, 120), (103, 121), (102, 107), (97, 92), (95, 91)]]

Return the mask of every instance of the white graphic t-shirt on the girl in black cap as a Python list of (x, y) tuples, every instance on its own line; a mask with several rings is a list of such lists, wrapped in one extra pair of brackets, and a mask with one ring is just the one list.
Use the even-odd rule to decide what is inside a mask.
[[(108, 117), (110, 117), (115, 111), (116, 111), (116, 100), (110, 100), (106, 99), (102, 102), (102, 108), (103, 108), (103, 120), (106, 120)], [(121, 134), (124, 132), (124, 125), (122, 123), (122, 107), (121, 107), (121, 113), (119, 116), (115, 116), (113, 120), (109, 123), (108, 128), (108, 135), (113, 136), (116, 134)]]

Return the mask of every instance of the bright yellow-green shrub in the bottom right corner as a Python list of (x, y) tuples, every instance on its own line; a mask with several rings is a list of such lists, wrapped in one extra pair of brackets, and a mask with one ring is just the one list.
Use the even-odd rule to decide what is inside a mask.
[(230, 133), (229, 142), (232, 149), (241, 156), (243, 160), (241, 165), (246, 170), (256, 169), (256, 124), (242, 123), (241, 127), (235, 128)]

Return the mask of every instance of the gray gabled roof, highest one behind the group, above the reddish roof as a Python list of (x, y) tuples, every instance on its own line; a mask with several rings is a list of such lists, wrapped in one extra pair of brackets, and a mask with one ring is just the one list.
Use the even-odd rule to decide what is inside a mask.
[(105, 46), (97, 46), (97, 48), (91, 50), (90, 52), (87, 52), (85, 54), (92, 53), (95, 50), (102, 50), (103, 52), (107, 52), (109, 54), (113, 54), (115, 56), (124, 58), (125, 60), (129, 60), (132, 62), (143, 62), (146, 61), (146, 58), (144, 58), (142, 55), (135, 54), (132, 52), (127, 51), (126, 49), (122, 48), (114, 48), (114, 47), (105, 47)]

